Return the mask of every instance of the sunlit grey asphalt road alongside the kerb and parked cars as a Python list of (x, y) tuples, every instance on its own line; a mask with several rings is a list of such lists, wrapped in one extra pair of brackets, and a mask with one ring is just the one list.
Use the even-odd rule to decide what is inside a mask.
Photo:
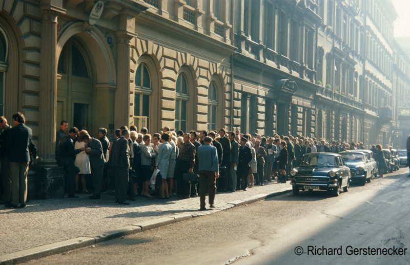
[[(409, 188), (406, 168), (339, 197), (284, 194), (27, 263), (408, 264)], [(396, 252), (363, 255), (369, 248)]]

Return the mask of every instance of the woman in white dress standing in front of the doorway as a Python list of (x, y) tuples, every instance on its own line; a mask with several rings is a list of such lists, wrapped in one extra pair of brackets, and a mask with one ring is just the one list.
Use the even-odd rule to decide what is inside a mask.
[[(83, 141), (83, 135), (86, 133), (86, 130), (79, 132), (77, 141), (75, 142), (75, 149), (80, 149), (81, 147), (87, 148), (87, 144)], [(78, 181), (81, 176), (81, 185), (83, 186), (83, 192), (88, 193), (86, 186), (86, 175), (91, 174), (91, 168), (90, 158), (88, 157), (85, 150), (76, 155), (74, 164), (80, 169), (80, 172), (78, 172), (78, 174), (75, 176), (75, 191), (79, 192)]]

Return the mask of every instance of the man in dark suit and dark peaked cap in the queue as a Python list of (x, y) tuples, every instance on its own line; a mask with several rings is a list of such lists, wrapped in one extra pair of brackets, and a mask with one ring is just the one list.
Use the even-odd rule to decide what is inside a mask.
[(247, 146), (248, 139), (242, 137), (240, 139), (239, 147), (239, 157), (238, 157), (238, 184), (236, 190), (242, 189), (243, 191), (247, 190), (248, 186), (248, 173), (249, 173), (249, 162), (252, 160), (251, 149)]

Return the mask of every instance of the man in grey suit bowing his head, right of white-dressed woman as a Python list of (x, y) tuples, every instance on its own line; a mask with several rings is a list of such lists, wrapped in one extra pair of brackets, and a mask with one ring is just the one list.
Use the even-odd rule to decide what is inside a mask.
[(103, 146), (99, 140), (91, 138), (88, 133), (83, 135), (83, 141), (87, 144), (86, 153), (90, 158), (91, 177), (94, 185), (94, 193), (89, 198), (99, 199), (103, 191), (104, 164), (106, 162)]

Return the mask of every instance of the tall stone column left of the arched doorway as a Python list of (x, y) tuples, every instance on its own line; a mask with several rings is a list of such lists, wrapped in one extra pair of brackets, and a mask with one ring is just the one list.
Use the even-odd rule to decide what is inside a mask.
[(42, 40), (40, 59), (40, 121), (39, 154), (43, 164), (56, 166), (56, 101), (57, 101), (57, 16), (59, 12), (42, 9)]

